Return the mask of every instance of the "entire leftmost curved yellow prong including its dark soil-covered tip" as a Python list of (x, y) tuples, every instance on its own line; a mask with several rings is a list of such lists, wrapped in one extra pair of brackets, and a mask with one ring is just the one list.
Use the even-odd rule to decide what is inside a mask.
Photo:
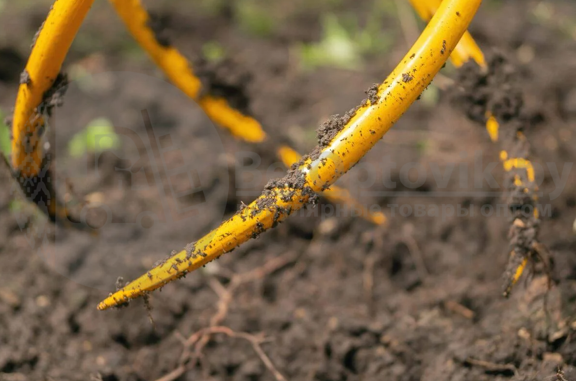
[[(49, 101), (44, 98), (54, 86), (63, 85), (58, 83), (63, 80), (59, 74), (60, 68), (92, 3), (93, 0), (59, 0), (54, 3), (35, 36), (14, 106), (13, 174), (20, 180), (26, 196), (32, 197), (36, 204), (47, 207), (48, 216), (53, 221), (66, 222), (68, 214), (56, 202), (54, 186), (48, 180), (50, 176), (41, 173), (47, 165), (44, 163), (40, 136), (44, 119), (39, 106)], [(50, 110), (51, 105), (44, 106)]]

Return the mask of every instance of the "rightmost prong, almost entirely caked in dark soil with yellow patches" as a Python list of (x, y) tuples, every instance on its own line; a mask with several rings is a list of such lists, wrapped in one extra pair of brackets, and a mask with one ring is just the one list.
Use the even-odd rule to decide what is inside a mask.
[[(530, 151), (528, 139), (522, 132), (526, 121), (521, 119), (520, 110), (523, 104), (521, 94), (509, 83), (503, 83), (505, 82), (503, 79), (490, 80), (489, 77), (497, 75), (509, 77), (507, 70), (502, 68), (505, 63), (505, 58), (496, 55), (486, 68), (480, 68), (475, 73), (472, 71), (464, 73), (465, 76), (472, 75), (473, 77), (464, 78), (463, 82), (471, 86), (464, 90), (470, 94), (465, 97), (465, 106), (469, 106), (472, 102), (486, 108), (482, 116), (469, 115), (469, 117), (482, 121), (491, 142), (501, 146), (499, 160), (507, 176), (506, 204), (511, 214), (508, 234), (509, 261), (504, 274), (502, 292), (507, 297), (520, 280), (526, 267), (529, 264), (533, 265), (536, 259), (542, 259), (543, 256), (535, 247), (543, 247), (543, 245), (538, 241), (540, 212), (537, 204), (536, 173), (532, 162), (528, 159)], [(495, 83), (490, 83), (491, 81)], [(504, 88), (503, 86), (507, 86), (504, 99), (498, 97), (497, 94)], [(482, 101), (478, 102), (476, 98), (482, 98)], [(525, 212), (525, 209), (529, 212)], [(549, 266), (544, 265), (547, 269), (547, 276), (550, 278)]]

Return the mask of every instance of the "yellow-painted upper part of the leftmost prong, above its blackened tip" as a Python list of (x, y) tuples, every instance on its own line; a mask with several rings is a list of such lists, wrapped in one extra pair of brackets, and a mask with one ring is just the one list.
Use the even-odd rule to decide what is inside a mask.
[(12, 131), (12, 166), (21, 176), (36, 176), (43, 159), (39, 129), (43, 117), (37, 107), (54, 84), (68, 49), (93, 0), (59, 0), (54, 3), (32, 48), (26, 72), (29, 80), (18, 88)]

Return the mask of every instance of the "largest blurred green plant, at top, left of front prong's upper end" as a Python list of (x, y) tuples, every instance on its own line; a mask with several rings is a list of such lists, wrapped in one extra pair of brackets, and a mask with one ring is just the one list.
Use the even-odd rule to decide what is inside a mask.
[(317, 43), (298, 45), (300, 62), (305, 69), (321, 66), (361, 70), (363, 56), (388, 51), (394, 36), (382, 30), (383, 9), (370, 12), (361, 28), (355, 15), (339, 19), (333, 13), (321, 19), (322, 39)]

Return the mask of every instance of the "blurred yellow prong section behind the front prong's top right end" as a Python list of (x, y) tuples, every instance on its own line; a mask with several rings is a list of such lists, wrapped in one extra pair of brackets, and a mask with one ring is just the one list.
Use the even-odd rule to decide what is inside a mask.
[[(418, 16), (427, 22), (434, 16), (442, 0), (410, 0), (410, 3), (416, 13), (418, 13)], [(450, 61), (452, 61), (454, 66), (460, 67), (470, 59), (475, 60), (480, 67), (486, 67), (486, 60), (482, 50), (476, 44), (472, 35), (466, 31), (458, 45), (456, 45), (456, 49), (450, 55)]]

